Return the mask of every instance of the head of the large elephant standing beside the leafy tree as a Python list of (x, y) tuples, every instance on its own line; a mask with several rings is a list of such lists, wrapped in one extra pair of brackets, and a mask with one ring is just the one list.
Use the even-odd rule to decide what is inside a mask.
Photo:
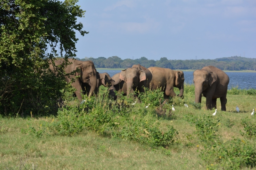
[(84, 61), (75, 67), (76, 76), (80, 76), (79, 80), (91, 86), (88, 96), (92, 96), (97, 86), (97, 71), (92, 61)]

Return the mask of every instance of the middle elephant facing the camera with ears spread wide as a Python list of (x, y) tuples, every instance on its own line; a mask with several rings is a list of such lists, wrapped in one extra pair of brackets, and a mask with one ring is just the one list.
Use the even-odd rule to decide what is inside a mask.
[[(118, 77), (119, 75), (119, 77)], [(139, 92), (145, 92), (144, 87), (149, 87), (152, 80), (151, 72), (140, 64), (133, 65), (132, 68), (122, 70), (115, 74), (112, 79), (115, 81), (114, 87), (117, 91), (123, 91), (127, 96), (138, 89)], [(137, 98), (137, 95), (134, 94)]]

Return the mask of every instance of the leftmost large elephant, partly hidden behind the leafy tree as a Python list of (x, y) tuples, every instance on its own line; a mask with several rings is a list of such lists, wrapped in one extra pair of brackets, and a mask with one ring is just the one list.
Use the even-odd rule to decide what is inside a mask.
[[(55, 65), (62, 64), (64, 59), (55, 60)], [(75, 74), (70, 74), (69, 77), (66, 76), (66, 81), (69, 83), (71, 79), (75, 79), (75, 82), (73, 82), (71, 85), (76, 89), (75, 94), (77, 98), (82, 101), (82, 95), (81, 90), (82, 87), (84, 87), (81, 84), (88, 84), (91, 89), (88, 93), (88, 96), (92, 96), (93, 92), (97, 86), (97, 71), (94, 67), (94, 64), (92, 61), (80, 61), (80, 60), (74, 60), (74, 59), (68, 59), (68, 61), (71, 63), (67, 66), (65, 66), (64, 70), (66, 73), (71, 73), (74, 70), (78, 70)], [(54, 69), (52, 64), (50, 65), (50, 69)], [(79, 78), (76, 78), (76, 76), (80, 76)], [(85, 89), (83, 89), (84, 91)]]

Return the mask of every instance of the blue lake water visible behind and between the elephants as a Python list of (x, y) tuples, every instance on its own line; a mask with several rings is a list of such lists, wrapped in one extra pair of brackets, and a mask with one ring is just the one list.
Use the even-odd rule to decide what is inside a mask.
[[(97, 70), (99, 73), (107, 72), (111, 77), (116, 73), (120, 73), (121, 70)], [(235, 72), (226, 72), (229, 76), (228, 89), (231, 87), (238, 86), (239, 89), (256, 89), (256, 73), (235, 73)], [(193, 72), (184, 71), (185, 82), (192, 84), (193, 83)]]

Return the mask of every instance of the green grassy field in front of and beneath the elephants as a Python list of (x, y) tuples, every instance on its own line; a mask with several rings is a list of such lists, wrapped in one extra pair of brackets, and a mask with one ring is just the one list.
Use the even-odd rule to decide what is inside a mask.
[[(253, 134), (242, 136), (245, 129), (241, 123), (242, 120), (246, 120), (255, 125), (253, 124), (255, 118), (251, 116), (251, 112), (252, 109), (256, 108), (256, 96), (231, 95), (232, 91), (230, 91), (227, 96), (227, 111), (220, 111), (220, 101), (217, 100), (218, 111), (216, 116), (212, 117), (214, 111), (205, 110), (205, 98), (202, 98), (202, 109), (197, 110), (193, 104), (193, 87), (186, 85), (185, 88), (188, 89), (185, 89), (183, 100), (175, 97), (170, 99), (168, 104), (156, 103), (154, 105), (152, 103), (147, 109), (145, 106), (152, 100), (150, 95), (153, 93), (151, 94), (151, 92), (142, 100), (144, 103), (132, 105), (132, 101), (124, 99), (119, 107), (116, 107), (118, 101), (115, 103), (109, 99), (103, 100), (104, 93), (102, 92), (103, 96), (99, 95), (98, 98), (101, 97), (102, 100), (100, 100), (103, 102), (98, 99), (94, 99), (94, 101), (86, 99), (87, 103), (85, 102), (84, 105), (94, 104), (91, 109), (89, 106), (83, 107), (82, 105), (78, 108), (79, 102), (74, 98), (70, 99), (65, 104), (69, 108), (75, 107), (75, 109), (69, 109), (69, 115), (65, 116), (67, 120), (63, 120), (61, 117), (64, 112), (63, 108), (60, 109), (58, 117), (34, 117), (33, 113), (28, 117), (1, 117), (0, 169), (251, 169), (250, 165), (254, 165), (256, 159), (255, 155), (253, 156), (256, 144), (255, 136)], [(104, 88), (101, 90), (106, 92)], [(153, 97), (157, 98), (156, 95)], [(158, 95), (159, 97), (162, 96)], [(146, 102), (147, 99), (148, 103)], [(188, 104), (188, 108), (183, 106), (184, 103)], [(111, 104), (111, 107), (108, 106)], [(172, 104), (175, 107), (173, 112), (171, 111)], [(240, 109), (239, 113), (236, 112), (236, 105)], [(161, 112), (162, 107), (164, 113)], [(87, 111), (82, 110), (81, 112), (81, 108), (84, 110), (87, 108)], [(97, 112), (100, 108), (103, 111)], [(118, 113), (115, 112), (116, 115), (112, 115), (115, 124), (117, 124), (116, 122), (120, 123), (115, 130), (109, 129), (111, 121), (96, 127), (97, 122), (92, 125), (90, 120), (86, 120), (91, 119), (89, 115), (94, 114), (94, 112), (97, 112), (98, 115), (93, 117), (92, 121), (99, 116), (106, 116), (108, 113), (110, 114), (110, 108), (121, 110)], [(128, 111), (128, 115), (125, 115)], [(84, 114), (80, 114), (80, 112), (84, 112)], [(77, 113), (78, 116), (72, 119), (72, 115)], [(84, 118), (85, 124), (80, 127), (80, 129), (82, 128), (81, 131), (73, 133), (79, 117)], [(106, 117), (103, 119), (107, 120)], [(128, 119), (130, 121), (127, 121)], [(134, 135), (136, 128), (140, 129), (140, 126), (135, 126), (132, 130), (134, 124), (131, 122), (140, 119), (145, 120), (145, 124), (149, 124), (148, 128), (142, 129), (143, 131), (140, 132), (139, 138), (136, 140), (135, 137), (125, 138), (127, 135), (122, 133), (125, 130), (124, 127), (126, 127), (125, 132)], [(201, 119), (204, 119), (201, 121), (203, 126), (199, 127)], [(61, 121), (66, 122), (58, 124)], [(65, 129), (67, 121), (69, 124), (68, 128)], [(72, 124), (72, 121), (75, 122)], [(216, 121), (219, 121), (216, 125), (211, 124), (216, 123)], [(55, 122), (57, 125), (54, 124)], [(162, 133), (162, 135), (160, 133), (160, 137), (168, 134), (167, 127), (169, 125), (177, 130), (178, 134), (173, 135), (174, 141), (166, 145), (153, 145), (151, 139), (149, 140), (149, 137), (143, 134), (150, 136), (152, 133), (150, 127), (155, 127), (155, 124), (158, 124), (157, 127)], [(59, 129), (62, 128), (62, 131), (54, 128), (57, 126)], [(103, 131), (101, 131), (103, 126)], [(129, 126), (131, 126), (130, 129)], [(73, 130), (71, 130), (72, 128)], [(201, 133), (202, 128), (207, 131)], [(209, 131), (211, 134), (208, 134)], [(256, 131), (255, 126), (252, 126), (251, 131)], [(120, 135), (115, 136), (113, 132), (124, 135), (122, 137)], [(241, 139), (242, 142), (236, 143), (237, 139)], [(238, 156), (228, 156), (222, 150), (217, 151), (216, 148), (221, 148), (229, 141), (232, 144), (229, 145), (231, 150), (233, 149), (232, 152), (237, 152)], [(232, 142), (234, 141), (235, 144), (233, 145)], [(242, 149), (238, 152), (236, 148)], [(239, 156), (241, 153), (246, 155), (249, 152), (252, 154), (246, 158)], [(212, 158), (214, 159), (211, 161)], [(234, 160), (233, 158), (237, 159)], [(248, 163), (248, 160), (253, 163)], [(239, 165), (236, 166), (235, 163), (239, 163)], [(252, 169), (256, 168), (252, 167)]]

